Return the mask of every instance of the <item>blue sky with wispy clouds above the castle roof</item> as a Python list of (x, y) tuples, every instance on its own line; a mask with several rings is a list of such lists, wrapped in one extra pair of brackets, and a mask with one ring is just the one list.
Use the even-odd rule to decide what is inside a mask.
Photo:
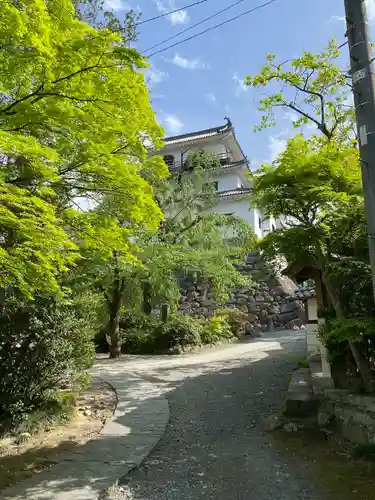
[[(142, 12), (142, 19), (193, 3), (194, 0), (106, 0), (119, 17), (125, 9)], [(237, 7), (182, 35), (198, 31), (246, 11), (264, 0), (244, 0)], [(369, 13), (375, 18), (374, 0)], [(234, 0), (207, 0), (174, 15), (140, 26), (138, 50), (143, 52), (178, 31), (220, 10)], [(151, 98), (166, 135), (234, 123), (242, 149), (254, 165), (270, 161), (293, 135), (288, 114), (277, 127), (254, 133), (259, 93), (242, 84), (261, 68), (266, 53), (283, 61), (302, 50), (320, 51), (328, 40), (345, 41), (344, 0), (279, 0), (194, 40), (150, 59), (147, 72)], [(178, 41), (173, 40), (170, 43)], [(164, 47), (164, 46), (162, 46)], [(161, 47), (161, 48), (162, 48)], [(343, 49), (347, 55), (347, 47)], [(344, 60), (345, 62), (345, 60)]]

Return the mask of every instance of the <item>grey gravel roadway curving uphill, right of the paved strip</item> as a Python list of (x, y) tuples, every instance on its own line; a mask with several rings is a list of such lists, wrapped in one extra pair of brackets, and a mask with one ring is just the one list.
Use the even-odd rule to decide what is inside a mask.
[(261, 424), (282, 401), (304, 345), (291, 336), (134, 363), (167, 391), (171, 419), (148, 459), (120, 481), (115, 498), (323, 500), (307, 466), (280, 453)]

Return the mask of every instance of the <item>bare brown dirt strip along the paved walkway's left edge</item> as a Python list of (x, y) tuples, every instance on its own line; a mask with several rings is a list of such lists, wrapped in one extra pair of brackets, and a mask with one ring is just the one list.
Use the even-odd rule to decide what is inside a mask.
[(0, 491), (52, 467), (73, 448), (92, 439), (113, 415), (116, 402), (112, 388), (94, 380), (78, 397), (74, 416), (66, 424), (46, 428), (19, 444), (15, 438), (0, 439)]

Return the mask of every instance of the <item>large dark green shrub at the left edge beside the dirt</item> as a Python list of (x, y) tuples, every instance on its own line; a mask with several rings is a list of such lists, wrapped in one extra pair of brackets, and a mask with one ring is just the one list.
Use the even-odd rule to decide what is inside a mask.
[(93, 331), (75, 304), (6, 297), (0, 314), (0, 415), (16, 424), (44, 406), (61, 379), (94, 360)]

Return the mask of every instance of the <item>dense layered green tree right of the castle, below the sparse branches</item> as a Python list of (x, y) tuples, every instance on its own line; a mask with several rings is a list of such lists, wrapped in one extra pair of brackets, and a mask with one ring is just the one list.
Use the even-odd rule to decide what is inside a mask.
[[(282, 255), (289, 264), (319, 270), (337, 318), (343, 321), (348, 307), (332, 270), (343, 258), (351, 257), (353, 266), (363, 255), (358, 248), (364, 241), (358, 150), (334, 139), (306, 140), (299, 135), (288, 141), (272, 165), (263, 165), (252, 178), (254, 204), (266, 215), (285, 219), (282, 229), (263, 239), (264, 256), (272, 260)], [(368, 360), (360, 344), (349, 340), (349, 345), (364, 386), (372, 391)]]

